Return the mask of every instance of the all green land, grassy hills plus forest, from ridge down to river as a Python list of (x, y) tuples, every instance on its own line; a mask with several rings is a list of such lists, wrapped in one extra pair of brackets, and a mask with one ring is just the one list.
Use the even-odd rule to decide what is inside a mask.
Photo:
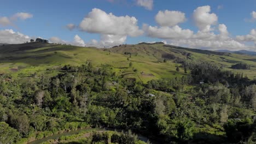
[[(35, 44), (1, 53), (2, 143), (89, 127), (131, 130), (160, 143), (255, 142), (256, 64), (242, 60), (251, 70), (229, 69), (252, 56), (163, 44), (105, 50)], [(139, 142), (131, 133), (84, 138)]]

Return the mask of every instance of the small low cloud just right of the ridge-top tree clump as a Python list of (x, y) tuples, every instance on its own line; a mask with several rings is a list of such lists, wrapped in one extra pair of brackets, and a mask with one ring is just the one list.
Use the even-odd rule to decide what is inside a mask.
[(75, 45), (75, 46), (85, 46), (84, 40), (82, 38), (79, 37), (79, 35), (75, 35), (74, 36), (74, 40), (73, 41), (66, 41), (66, 40), (62, 40), (59, 37), (51, 37), (50, 38), (51, 43), (56, 43), (56, 44), (71, 44), (71, 45)]

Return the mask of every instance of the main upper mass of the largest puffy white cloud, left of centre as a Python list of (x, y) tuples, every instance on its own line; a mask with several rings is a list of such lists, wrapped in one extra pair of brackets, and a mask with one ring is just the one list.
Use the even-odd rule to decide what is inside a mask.
[(94, 8), (84, 17), (79, 27), (82, 31), (89, 33), (137, 37), (143, 34), (143, 31), (137, 26), (137, 21), (133, 16), (115, 16), (112, 13), (107, 14), (101, 9)]

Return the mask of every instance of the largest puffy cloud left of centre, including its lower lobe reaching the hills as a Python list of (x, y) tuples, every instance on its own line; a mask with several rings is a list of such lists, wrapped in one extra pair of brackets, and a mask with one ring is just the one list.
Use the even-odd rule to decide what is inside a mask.
[(100, 41), (92, 40), (86, 45), (112, 47), (123, 44), (127, 36), (137, 37), (143, 34), (142, 29), (137, 26), (137, 21), (133, 16), (115, 16), (95, 8), (84, 17), (79, 28), (88, 33), (101, 34)]

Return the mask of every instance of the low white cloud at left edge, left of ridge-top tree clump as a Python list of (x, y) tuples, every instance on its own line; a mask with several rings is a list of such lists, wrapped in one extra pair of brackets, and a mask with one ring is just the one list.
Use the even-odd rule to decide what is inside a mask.
[(13, 29), (0, 30), (0, 43), (21, 44), (29, 40), (30, 37), (19, 32), (14, 32)]

